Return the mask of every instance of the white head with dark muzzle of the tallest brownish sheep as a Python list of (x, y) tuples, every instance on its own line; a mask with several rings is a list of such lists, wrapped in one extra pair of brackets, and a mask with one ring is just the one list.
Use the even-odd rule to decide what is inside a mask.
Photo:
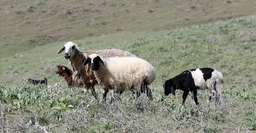
[(76, 50), (79, 51), (79, 48), (78, 48), (77, 44), (74, 44), (72, 41), (69, 41), (66, 44), (64, 44), (64, 46), (62, 48), (60, 48), (57, 53), (61, 53), (64, 50), (65, 50), (64, 57), (66, 59), (69, 59), (75, 55)]

